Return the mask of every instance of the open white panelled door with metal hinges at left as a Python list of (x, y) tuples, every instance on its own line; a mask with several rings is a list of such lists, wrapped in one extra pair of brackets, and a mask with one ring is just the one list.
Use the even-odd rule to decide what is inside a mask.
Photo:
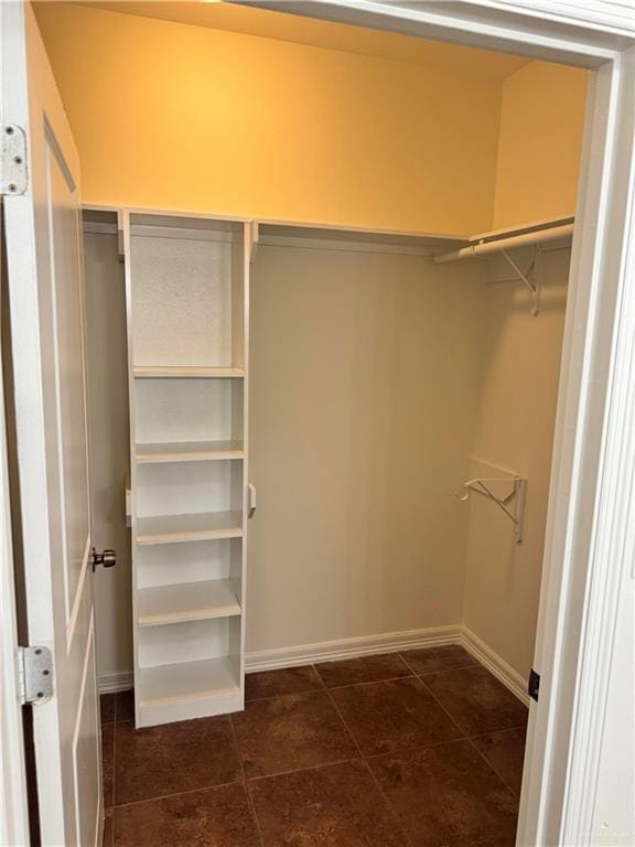
[(26, 186), (6, 197), (26, 614), (53, 656), (33, 707), (42, 844), (98, 845), (79, 160), (30, 6), (1, 7), (3, 131), (28, 150)]

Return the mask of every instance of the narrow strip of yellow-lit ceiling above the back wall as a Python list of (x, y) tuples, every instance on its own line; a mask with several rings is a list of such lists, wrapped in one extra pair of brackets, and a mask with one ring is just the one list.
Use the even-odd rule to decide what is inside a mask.
[(301, 18), (225, 2), (180, 2), (155, 0), (76, 0), (79, 6), (155, 18), (163, 21), (208, 26), (215, 30), (290, 41), (327, 50), (379, 56), (435, 67), (446, 73), (478, 74), (504, 79), (528, 64), (529, 60), (506, 53), (493, 53), (454, 44), (424, 41), (391, 32)]

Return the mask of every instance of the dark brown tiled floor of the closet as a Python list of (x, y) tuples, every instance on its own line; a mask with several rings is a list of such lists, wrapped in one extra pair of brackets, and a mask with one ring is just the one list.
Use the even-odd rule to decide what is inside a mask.
[(105, 847), (514, 845), (527, 710), (462, 647), (247, 677), (244, 712), (136, 730), (101, 698)]

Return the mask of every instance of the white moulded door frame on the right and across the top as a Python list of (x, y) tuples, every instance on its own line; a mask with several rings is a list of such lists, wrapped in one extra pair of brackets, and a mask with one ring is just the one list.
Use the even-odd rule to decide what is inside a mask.
[[(635, 555), (632, 0), (235, 0), (594, 71), (556, 420), (518, 845), (590, 844), (618, 586)], [(460, 105), (458, 104), (458, 108)], [(628, 281), (631, 285), (628, 285)]]

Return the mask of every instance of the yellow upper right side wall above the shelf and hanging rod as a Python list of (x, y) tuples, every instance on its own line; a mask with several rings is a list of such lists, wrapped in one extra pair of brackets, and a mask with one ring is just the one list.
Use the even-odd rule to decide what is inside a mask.
[(586, 78), (531, 62), (505, 79), (495, 229), (575, 212)]

